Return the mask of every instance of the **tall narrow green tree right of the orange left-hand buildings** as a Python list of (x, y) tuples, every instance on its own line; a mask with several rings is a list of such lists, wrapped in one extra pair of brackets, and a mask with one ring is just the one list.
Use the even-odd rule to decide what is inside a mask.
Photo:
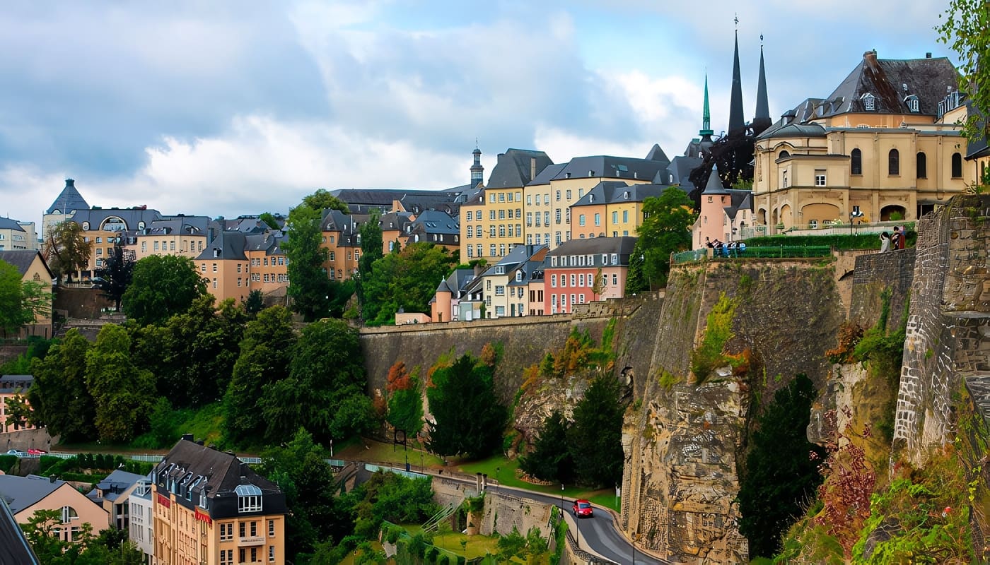
[(288, 237), (282, 243), (288, 261), (289, 296), (292, 310), (313, 322), (329, 312), (330, 279), (324, 262), (327, 249), (322, 245), (320, 212), (308, 206), (297, 206), (289, 211), (285, 223)]

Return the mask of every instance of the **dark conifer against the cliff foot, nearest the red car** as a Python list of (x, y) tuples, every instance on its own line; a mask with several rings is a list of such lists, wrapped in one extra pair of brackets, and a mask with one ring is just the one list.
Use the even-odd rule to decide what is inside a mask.
[[(619, 382), (611, 375), (591, 381), (574, 407), (567, 445), (575, 480), (589, 487), (611, 487), (622, 480), (622, 415)], [(589, 456), (593, 453), (594, 456)]]

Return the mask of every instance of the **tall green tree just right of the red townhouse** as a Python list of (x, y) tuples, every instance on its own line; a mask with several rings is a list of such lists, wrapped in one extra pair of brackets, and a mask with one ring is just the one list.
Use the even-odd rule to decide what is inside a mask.
[(691, 247), (690, 229), (698, 216), (691, 212), (692, 206), (687, 194), (673, 186), (643, 201), (644, 220), (637, 230), (637, 242), (644, 255), (643, 270), (650, 288), (666, 286), (670, 253)]

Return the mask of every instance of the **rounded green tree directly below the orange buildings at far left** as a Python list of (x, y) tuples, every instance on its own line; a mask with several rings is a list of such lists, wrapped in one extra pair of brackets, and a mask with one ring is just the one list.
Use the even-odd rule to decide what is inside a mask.
[(131, 286), (124, 292), (124, 314), (140, 326), (160, 324), (185, 312), (206, 294), (206, 279), (192, 259), (180, 255), (148, 255), (134, 265)]

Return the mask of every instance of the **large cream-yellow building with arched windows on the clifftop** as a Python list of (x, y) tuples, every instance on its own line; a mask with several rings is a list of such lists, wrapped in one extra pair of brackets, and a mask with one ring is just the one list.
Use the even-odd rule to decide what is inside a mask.
[(864, 53), (827, 99), (805, 101), (757, 137), (755, 222), (771, 235), (913, 222), (962, 191), (975, 167), (963, 167), (966, 139), (950, 114), (956, 76), (944, 57)]

